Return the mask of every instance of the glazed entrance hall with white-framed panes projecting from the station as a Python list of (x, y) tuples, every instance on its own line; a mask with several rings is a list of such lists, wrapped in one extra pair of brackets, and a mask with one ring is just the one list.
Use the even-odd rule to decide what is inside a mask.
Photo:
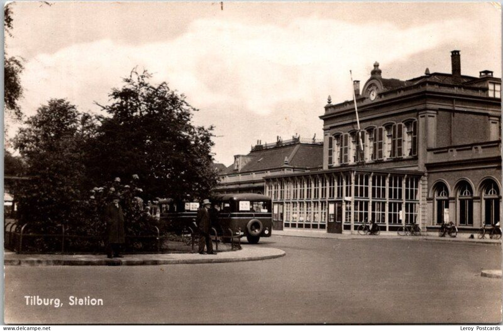
[(351, 168), (266, 178), (275, 229), (342, 233), (374, 220), (381, 231), (418, 222), (422, 173)]

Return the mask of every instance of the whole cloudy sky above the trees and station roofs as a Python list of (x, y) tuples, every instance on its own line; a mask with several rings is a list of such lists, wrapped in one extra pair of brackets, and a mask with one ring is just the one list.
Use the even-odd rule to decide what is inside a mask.
[[(494, 3), (13, 3), (9, 56), (23, 58), (25, 116), (51, 98), (100, 113), (134, 67), (166, 81), (214, 125), (216, 162), (293, 135), (321, 138), (328, 95), (352, 98), (378, 61), (384, 78), (484, 69), (501, 77)], [(6, 118), (8, 137), (19, 126)]]

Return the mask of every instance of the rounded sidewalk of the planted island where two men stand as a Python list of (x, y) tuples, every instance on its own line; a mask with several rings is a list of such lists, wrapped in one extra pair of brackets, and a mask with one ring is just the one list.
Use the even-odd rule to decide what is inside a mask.
[(225, 263), (239, 261), (258, 261), (284, 256), (282, 250), (260, 245), (243, 245), (242, 250), (219, 252), (217, 255), (200, 254), (136, 254), (124, 258), (107, 259), (105, 255), (54, 255), (54, 254), (16, 254), (6, 251), (5, 266), (146, 266), (167, 264)]

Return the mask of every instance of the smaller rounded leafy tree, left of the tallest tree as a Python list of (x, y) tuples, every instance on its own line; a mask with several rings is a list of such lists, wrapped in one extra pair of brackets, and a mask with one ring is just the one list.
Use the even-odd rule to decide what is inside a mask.
[(52, 99), (25, 124), (14, 139), (31, 178), (14, 187), (21, 221), (52, 226), (81, 218), (80, 202), (89, 196), (82, 147), (95, 130), (93, 119), (64, 99)]

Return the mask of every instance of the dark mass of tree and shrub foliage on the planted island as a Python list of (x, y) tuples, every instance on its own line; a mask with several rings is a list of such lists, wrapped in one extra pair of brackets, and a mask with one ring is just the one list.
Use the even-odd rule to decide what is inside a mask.
[[(106, 115), (51, 99), (25, 121), (13, 139), (21, 159), (6, 154), (12, 163), (6, 164), (20, 162), (16, 174), (30, 178), (12, 187), (21, 224), (46, 234), (60, 233), (64, 225), (69, 234), (97, 238), (105, 232), (103, 207), (119, 193), (126, 234), (143, 235), (159, 224), (142, 210), (142, 199), (209, 196), (216, 184), (212, 127), (193, 125), (196, 109), (185, 96), (149, 79), (148, 72), (133, 70), (122, 88), (112, 90), (109, 105), (101, 106)], [(123, 185), (119, 178), (131, 181)], [(35, 250), (58, 245), (37, 240)], [(86, 240), (75, 237), (70, 244), (93, 246)]]

